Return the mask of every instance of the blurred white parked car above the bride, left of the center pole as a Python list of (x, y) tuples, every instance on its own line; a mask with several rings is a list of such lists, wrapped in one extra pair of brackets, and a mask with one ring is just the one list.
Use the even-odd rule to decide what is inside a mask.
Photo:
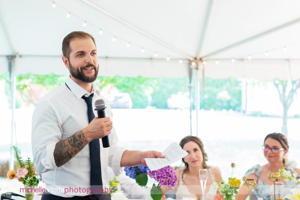
[(190, 99), (184, 94), (172, 94), (170, 98), (167, 99), (167, 105), (169, 109), (189, 109)]

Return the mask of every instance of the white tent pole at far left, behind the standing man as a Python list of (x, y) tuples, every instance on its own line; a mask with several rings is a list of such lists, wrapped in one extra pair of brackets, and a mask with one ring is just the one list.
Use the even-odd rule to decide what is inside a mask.
[[(17, 56), (7, 56), (7, 62), (8, 62), (8, 70), (10, 75), (10, 93), (11, 93), (11, 141), (10, 146), (16, 145), (16, 130), (15, 130), (15, 107), (16, 107), (16, 70), (15, 70), (15, 63), (16, 59), (18, 59)], [(9, 163), (9, 169), (14, 169), (14, 155), (12, 151), (10, 152), (10, 163)]]

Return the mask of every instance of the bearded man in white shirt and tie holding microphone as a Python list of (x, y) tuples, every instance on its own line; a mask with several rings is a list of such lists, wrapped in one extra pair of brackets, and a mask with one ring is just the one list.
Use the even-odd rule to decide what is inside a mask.
[[(62, 52), (70, 76), (40, 100), (32, 118), (34, 165), (47, 188), (42, 200), (110, 199), (104, 194), (110, 193), (108, 166), (119, 175), (123, 166), (146, 165), (144, 158), (164, 156), (117, 145), (109, 103), (93, 83), (99, 70), (93, 36), (82, 31), (68, 34)], [(96, 114), (91, 109), (98, 99), (105, 100), (105, 118), (90, 117)], [(99, 139), (106, 135), (110, 136), (110, 147), (103, 148)]]

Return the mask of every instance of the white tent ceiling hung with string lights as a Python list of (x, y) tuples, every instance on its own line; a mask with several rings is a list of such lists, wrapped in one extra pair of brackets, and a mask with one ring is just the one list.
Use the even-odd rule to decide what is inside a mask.
[(205, 76), (211, 78), (300, 78), (298, 0), (57, 0), (55, 8), (52, 4), (0, 0), (0, 73), (7, 71), (5, 56), (18, 53), (17, 73), (67, 74), (61, 61), (62, 39), (82, 30), (96, 39), (99, 75), (188, 76), (188, 60), (198, 58), (207, 60)]

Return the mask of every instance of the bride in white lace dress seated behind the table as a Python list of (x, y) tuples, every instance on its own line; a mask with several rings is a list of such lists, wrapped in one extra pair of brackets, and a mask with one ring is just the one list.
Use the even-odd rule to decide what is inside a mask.
[[(188, 155), (182, 158), (185, 168), (176, 171), (178, 179), (178, 183), (174, 188), (176, 199), (182, 199), (183, 197), (202, 199), (199, 169), (207, 169), (208, 179), (204, 198), (205, 200), (213, 200), (217, 191), (211, 185), (221, 182), (222, 176), (217, 168), (206, 165), (207, 154), (204, 151), (202, 141), (195, 136), (186, 136), (180, 141), (179, 145), (188, 152)], [(163, 194), (166, 194), (168, 190), (170, 188), (162, 186)]]

